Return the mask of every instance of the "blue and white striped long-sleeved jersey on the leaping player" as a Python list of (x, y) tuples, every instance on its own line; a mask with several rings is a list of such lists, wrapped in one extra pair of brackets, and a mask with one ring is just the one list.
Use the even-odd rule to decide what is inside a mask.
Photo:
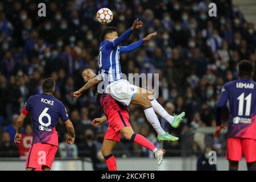
[(121, 36), (113, 40), (105, 40), (100, 44), (100, 50), (98, 55), (98, 67), (100, 71), (98, 72), (101, 75), (102, 80), (108, 80), (109, 84), (122, 79), (122, 71), (120, 64), (120, 54), (128, 53), (134, 51), (140, 47), (144, 41), (139, 40), (129, 46), (118, 45), (124, 42), (131, 35), (132, 30), (125, 31)]

